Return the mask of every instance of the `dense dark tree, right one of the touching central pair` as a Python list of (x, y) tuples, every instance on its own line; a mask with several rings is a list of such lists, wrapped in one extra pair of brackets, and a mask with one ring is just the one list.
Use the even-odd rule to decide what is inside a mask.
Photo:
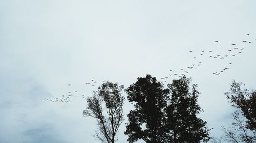
[(207, 122), (197, 117), (201, 112), (197, 104), (197, 84), (192, 85), (190, 92), (190, 82), (190, 78), (183, 76), (167, 85), (172, 94), (166, 111), (168, 142), (207, 142), (210, 139)]

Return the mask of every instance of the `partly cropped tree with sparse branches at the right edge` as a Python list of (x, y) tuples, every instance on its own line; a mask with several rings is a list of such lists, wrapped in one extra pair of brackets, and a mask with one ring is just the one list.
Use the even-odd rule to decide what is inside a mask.
[(242, 90), (241, 85), (233, 80), (230, 92), (225, 93), (237, 110), (232, 114), (232, 127), (223, 127), (224, 139), (228, 142), (256, 142), (256, 91)]

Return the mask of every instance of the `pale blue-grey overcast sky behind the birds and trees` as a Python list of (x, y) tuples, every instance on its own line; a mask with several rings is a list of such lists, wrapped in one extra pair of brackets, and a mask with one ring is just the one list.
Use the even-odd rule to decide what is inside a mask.
[[(102, 80), (127, 88), (151, 74), (166, 84), (185, 70), (201, 93), (199, 117), (220, 137), (221, 126), (232, 121), (234, 108), (224, 95), (231, 81), (256, 89), (255, 5), (0, 0), (0, 142), (99, 142), (92, 136), (96, 121), (82, 116), (87, 104), (81, 95), (92, 96)], [(94, 87), (85, 84), (92, 79)], [(70, 91), (79, 97), (69, 103), (44, 100)], [(131, 107), (125, 101), (125, 115)], [(117, 142), (127, 142), (126, 121)]]

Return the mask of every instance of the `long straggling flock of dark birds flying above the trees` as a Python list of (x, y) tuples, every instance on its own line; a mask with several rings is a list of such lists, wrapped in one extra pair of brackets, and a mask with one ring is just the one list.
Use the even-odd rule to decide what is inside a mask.
[[(249, 36), (250, 34), (246, 34), (247, 36)], [(255, 39), (256, 40), (256, 39)], [(215, 43), (219, 43), (220, 41), (214, 41)], [(241, 41), (242, 43), (252, 43), (251, 41), (246, 41), (246, 40), (243, 40)], [(231, 49), (227, 49), (226, 52), (228, 52), (228, 54), (214, 54), (214, 51), (213, 50), (202, 50), (201, 53), (199, 53), (198, 55), (199, 56), (204, 56), (206, 55), (206, 53), (208, 53), (208, 56), (210, 59), (220, 59), (220, 60), (223, 60), (223, 59), (226, 59), (228, 56), (237, 56), (239, 54), (242, 53), (242, 51), (244, 50), (244, 48), (238, 48), (236, 46), (237, 44), (236, 43), (232, 43), (231, 44)], [(193, 53), (194, 51), (193, 50), (190, 50), (189, 51), (190, 53)], [(193, 56), (193, 59), (197, 59), (197, 56)], [(186, 73), (188, 73), (189, 70), (193, 70), (195, 69), (196, 67), (199, 67), (201, 66), (202, 62), (196, 62), (194, 64), (191, 64), (189, 66), (187, 66), (186, 68), (180, 68), (179, 70), (177, 70), (177, 72), (175, 72), (174, 70), (169, 70), (168, 72), (168, 75), (165, 76), (165, 77), (161, 77), (160, 79), (163, 81), (163, 82), (166, 82), (168, 78), (170, 77), (182, 77), (183, 75), (185, 75)], [(231, 65), (232, 62), (228, 62), (228, 65)], [(225, 72), (226, 70), (228, 70), (229, 67), (225, 67), (224, 69), (220, 70), (220, 71), (215, 71), (213, 72), (212, 74), (214, 75), (219, 75), (223, 72)], [(105, 82), (105, 80), (103, 80), (102, 82)], [(92, 79), (90, 82), (87, 82), (85, 83), (87, 86), (90, 86), (90, 87), (94, 87), (96, 85), (96, 83), (99, 83), (97, 81), (95, 81), (94, 79)], [(68, 84), (68, 86), (71, 86), (71, 83)], [(54, 99), (47, 99), (47, 98), (44, 98), (45, 101), (49, 101), (49, 102), (63, 102), (63, 103), (68, 103), (70, 101), (72, 101), (73, 99), (72, 98), (86, 98), (85, 95), (83, 94), (80, 94), (77, 92), (77, 91), (69, 91), (66, 95), (62, 95), (61, 97), (57, 97), (57, 98), (54, 98)]]

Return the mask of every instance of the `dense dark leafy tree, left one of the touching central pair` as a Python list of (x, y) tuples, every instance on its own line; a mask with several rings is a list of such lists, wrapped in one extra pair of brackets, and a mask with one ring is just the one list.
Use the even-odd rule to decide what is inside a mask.
[(163, 142), (164, 110), (169, 90), (164, 89), (163, 84), (151, 75), (137, 79), (136, 83), (125, 89), (129, 102), (135, 102), (135, 109), (127, 115), (129, 123), (124, 134), (129, 136), (129, 142), (139, 139), (147, 143)]

